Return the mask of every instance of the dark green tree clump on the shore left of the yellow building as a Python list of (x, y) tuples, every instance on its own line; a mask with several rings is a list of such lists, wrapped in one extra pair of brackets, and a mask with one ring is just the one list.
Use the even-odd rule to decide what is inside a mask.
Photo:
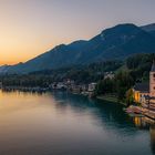
[[(99, 81), (95, 95), (112, 95), (113, 97), (117, 99), (117, 102), (126, 102), (127, 90), (134, 85), (134, 80), (131, 76), (130, 72), (127, 71), (118, 71), (114, 79), (105, 79)], [(131, 99), (127, 99), (131, 102)]]

